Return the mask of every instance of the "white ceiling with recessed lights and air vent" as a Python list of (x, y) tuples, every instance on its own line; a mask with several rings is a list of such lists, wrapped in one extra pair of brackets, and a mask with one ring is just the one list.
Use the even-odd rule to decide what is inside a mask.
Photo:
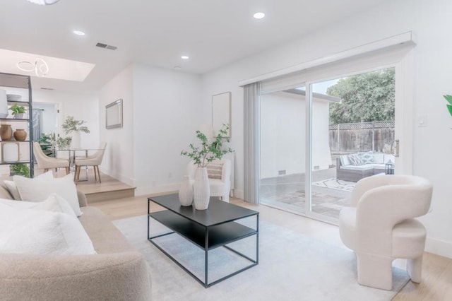
[[(95, 64), (83, 82), (33, 78), (32, 85), (97, 90), (133, 62), (205, 73), (383, 1), (60, 0), (38, 6), (0, 0), (0, 49)], [(258, 11), (266, 18), (254, 19)], [(118, 49), (95, 47), (97, 42)], [(190, 59), (181, 59), (184, 54)], [(0, 62), (0, 71), (16, 63)]]

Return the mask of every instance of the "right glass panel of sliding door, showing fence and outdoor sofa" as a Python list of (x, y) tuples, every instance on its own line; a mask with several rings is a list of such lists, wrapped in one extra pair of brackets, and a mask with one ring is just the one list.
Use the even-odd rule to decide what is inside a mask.
[(311, 87), (309, 215), (338, 220), (363, 177), (393, 172), (395, 71), (359, 73)]

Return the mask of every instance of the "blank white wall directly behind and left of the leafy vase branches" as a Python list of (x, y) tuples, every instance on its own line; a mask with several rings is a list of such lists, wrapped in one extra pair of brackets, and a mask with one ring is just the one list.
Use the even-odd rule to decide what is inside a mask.
[(133, 66), (133, 157), (136, 194), (179, 189), (203, 119), (200, 76)]

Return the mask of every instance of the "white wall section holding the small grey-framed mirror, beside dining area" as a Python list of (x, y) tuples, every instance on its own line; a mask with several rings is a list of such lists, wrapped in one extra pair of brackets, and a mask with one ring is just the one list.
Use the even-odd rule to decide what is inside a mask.
[[(105, 129), (105, 106), (122, 99), (123, 126)], [(102, 87), (99, 96), (100, 140), (107, 142), (101, 170), (121, 182), (135, 185), (133, 174), (133, 66), (126, 67)]]

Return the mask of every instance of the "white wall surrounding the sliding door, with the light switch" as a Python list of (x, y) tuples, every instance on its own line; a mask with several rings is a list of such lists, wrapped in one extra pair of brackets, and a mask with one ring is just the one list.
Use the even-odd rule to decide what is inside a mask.
[[(415, 49), (415, 120), (426, 116), (426, 127), (414, 125), (413, 171), (432, 180), (432, 212), (421, 218), (427, 227), (427, 251), (452, 257), (452, 118), (441, 95), (452, 94), (452, 2), (448, 0), (385, 1), (370, 11), (347, 18), (285, 45), (237, 61), (203, 75), (204, 114), (212, 95), (232, 92), (232, 146), (236, 150), (236, 191), (243, 189), (243, 89), (238, 81), (412, 30)], [(236, 135), (237, 134), (237, 135)], [(432, 148), (432, 146), (434, 146)], [(237, 194), (238, 196), (239, 194)]]

